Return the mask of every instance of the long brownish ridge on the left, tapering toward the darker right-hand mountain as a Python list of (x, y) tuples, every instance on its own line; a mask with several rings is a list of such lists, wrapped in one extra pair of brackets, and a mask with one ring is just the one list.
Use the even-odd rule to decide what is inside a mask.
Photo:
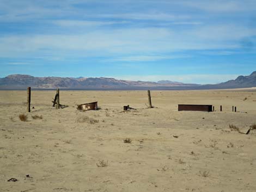
[(132, 89), (167, 86), (195, 86), (196, 84), (144, 82), (141, 80), (118, 80), (107, 77), (34, 77), (14, 74), (0, 78), (0, 89), (23, 89), (31, 86), (36, 89)]

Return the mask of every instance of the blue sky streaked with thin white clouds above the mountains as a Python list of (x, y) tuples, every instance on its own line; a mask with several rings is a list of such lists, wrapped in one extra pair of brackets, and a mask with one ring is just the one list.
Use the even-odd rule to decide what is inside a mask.
[(219, 83), (255, 53), (255, 0), (0, 0), (0, 77)]

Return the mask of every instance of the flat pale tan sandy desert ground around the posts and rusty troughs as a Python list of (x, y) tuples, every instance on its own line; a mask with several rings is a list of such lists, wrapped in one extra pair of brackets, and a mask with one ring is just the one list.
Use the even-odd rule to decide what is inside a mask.
[[(54, 94), (32, 90), (23, 122), (26, 91), (0, 91), (0, 191), (256, 191), (256, 130), (229, 128), (256, 122), (255, 91), (151, 91), (153, 109), (147, 91), (60, 90), (59, 110)], [(76, 109), (93, 101), (100, 110)], [(127, 104), (137, 110), (120, 113)]]

